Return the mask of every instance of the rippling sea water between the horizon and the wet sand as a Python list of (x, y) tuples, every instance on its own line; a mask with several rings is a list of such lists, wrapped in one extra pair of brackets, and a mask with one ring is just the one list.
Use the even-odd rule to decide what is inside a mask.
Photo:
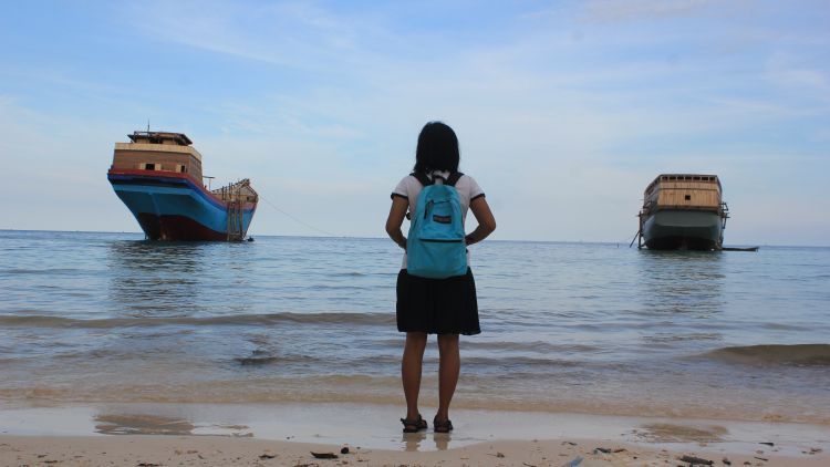
[[(454, 407), (830, 425), (830, 248), (471, 247)], [(403, 404), (386, 239), (0, 231), (0, 405)], [(434, 338), (422, 401), (437, 399)]]

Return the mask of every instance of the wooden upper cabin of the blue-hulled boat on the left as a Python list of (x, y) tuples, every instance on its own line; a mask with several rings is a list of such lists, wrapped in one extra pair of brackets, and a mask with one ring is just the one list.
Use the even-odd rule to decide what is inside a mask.
[(201, 184), (201, 154), (183, 133), (134, 132), (127, 136), (132, 143), (115, 143), (111, 168), (183, 173)]

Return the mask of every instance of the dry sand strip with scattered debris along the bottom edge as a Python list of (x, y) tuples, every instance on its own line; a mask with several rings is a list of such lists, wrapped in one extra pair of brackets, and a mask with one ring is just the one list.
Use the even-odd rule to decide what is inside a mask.
[[(432, 436), (432, 435), (428, 435)], [(601, 439), (496, 440), (433, 452), (371, 449), (220, 436), (0, 436), (0, 464), (68, 466), (826, 466), (823, 452), (780, 456), (656, 449)], [(336, 456), (317, 458), (314, 456)], [(713, 464), (706, 464), (712, 461)]]

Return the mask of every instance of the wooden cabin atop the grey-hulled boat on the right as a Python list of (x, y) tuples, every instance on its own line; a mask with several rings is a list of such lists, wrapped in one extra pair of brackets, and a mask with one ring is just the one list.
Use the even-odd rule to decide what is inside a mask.
[(643, 194), (643, 209), (701, 209), (720, 211), (720, 180), (717, 175), (661, 174)]

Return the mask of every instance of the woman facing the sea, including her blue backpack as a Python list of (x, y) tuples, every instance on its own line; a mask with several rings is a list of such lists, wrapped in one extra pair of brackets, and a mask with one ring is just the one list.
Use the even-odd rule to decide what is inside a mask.
[[(438, 335), (438, 412), (433, 428), (435, 433), (449, 433), (449, 403), (460, 372), (458, 335), (481, 332), (466, 247), (496, 230), (496, 219), (476, 180), (458, 172), (459, 158), (453, 128), (429, 122), (418, 135), (413, 173), (392, 191), (386, 232), (405, 250), (397, 276), (396, 305), (397, 330), (406, 333), (401, 362), (406, 398), (406, 417), (401, 418), (404, 433), (427, 428), (418, 412), (427, 335)], [(478, 226), (465, 236), (468, 209)], [(401, 226), (409, 216), (407, 239)]]

